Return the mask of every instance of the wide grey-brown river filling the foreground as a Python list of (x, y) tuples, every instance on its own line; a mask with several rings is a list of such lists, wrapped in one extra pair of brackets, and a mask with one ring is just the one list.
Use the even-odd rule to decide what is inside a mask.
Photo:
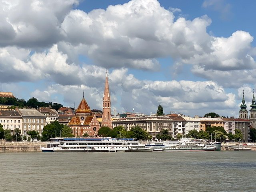
[(256, 191), (256, 151), (0, 153), (1, 192)]

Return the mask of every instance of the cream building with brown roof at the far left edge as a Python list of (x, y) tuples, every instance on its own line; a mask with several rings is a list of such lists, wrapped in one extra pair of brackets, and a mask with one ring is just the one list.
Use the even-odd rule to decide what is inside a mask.
[[(3, 129), (10, 129), (11, 134), (15, 134), (15, 129), (22, 128), (22, 116), (17, 111), (0, 111), (0, 124), (3, 126)], [(21, 133), (22, 134), (22, 133)]]

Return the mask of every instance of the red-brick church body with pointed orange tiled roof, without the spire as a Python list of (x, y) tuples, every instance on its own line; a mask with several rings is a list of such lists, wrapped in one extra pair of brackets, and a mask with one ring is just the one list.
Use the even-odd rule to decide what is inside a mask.
[(100, 123), (96, 115), (90, 110), (84, 94), (82, 101), (76, 109), (75, 116), (72, 117), (68, 126), (72, 129), (72, 134), (75, 136), (83, 136), (85, 133), (89, 136), (97, 136)]

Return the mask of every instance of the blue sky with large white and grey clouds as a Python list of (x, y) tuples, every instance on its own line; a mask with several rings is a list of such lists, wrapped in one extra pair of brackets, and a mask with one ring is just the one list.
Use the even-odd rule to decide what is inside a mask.
[(112, 114), (239, 115), (256, 82), (255, 0), (1, 0), (0, 91)]

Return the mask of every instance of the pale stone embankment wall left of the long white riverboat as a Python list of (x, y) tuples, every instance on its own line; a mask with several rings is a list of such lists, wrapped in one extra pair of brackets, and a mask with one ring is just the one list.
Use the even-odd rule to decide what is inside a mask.
[(0, 152), (42, 152), (46, 142), (0, 142)]

